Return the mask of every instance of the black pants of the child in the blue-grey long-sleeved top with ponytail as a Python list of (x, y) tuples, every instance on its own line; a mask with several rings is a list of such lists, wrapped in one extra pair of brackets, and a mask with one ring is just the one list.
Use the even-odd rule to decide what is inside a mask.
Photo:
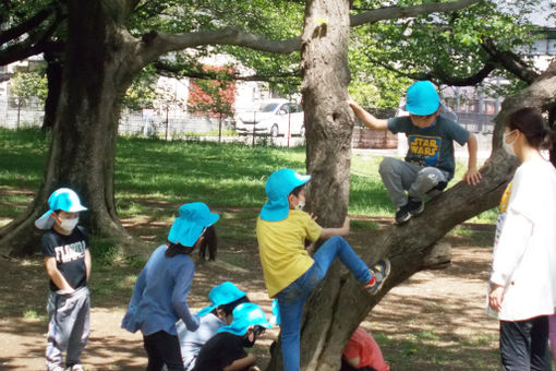
[(148, 356), (147, 371), (160, 371), (166, 364), (168, 371), (184, 371), (178, 336), (165, 331), (143, 336)]

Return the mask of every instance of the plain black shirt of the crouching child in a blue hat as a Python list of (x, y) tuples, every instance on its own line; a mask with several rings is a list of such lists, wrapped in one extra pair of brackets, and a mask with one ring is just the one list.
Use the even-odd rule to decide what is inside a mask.
[(221, 332), (205, 343), (193, 371), (222, 371), (233, 361), (247, 357), (241, 336)]

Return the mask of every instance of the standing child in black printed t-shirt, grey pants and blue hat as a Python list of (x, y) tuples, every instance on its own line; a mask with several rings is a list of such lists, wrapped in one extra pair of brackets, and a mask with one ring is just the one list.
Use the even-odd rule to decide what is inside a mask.
[[(87, 208), (68, 188), (55, 191), (48, 199), (48, 206), (50, 210), (35, 222), (37, 228), (47, 230), (41, 241), (50, 278), (47, 370), (81, 371), (81, 352), (89, 333), (90, 254), (88, 239), (77, 222), (78, 213)], [(65, 368), (62, 367), (64, 350), (68, 350)]]

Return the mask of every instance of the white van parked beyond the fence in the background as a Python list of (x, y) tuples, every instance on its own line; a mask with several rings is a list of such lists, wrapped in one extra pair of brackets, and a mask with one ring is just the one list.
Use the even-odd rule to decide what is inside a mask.
[(238, 115), (239, 134), (268, 134), (270, 136), (305, 135), (303, 108), (287, 99), (267, 99), (255, 103), (252, 109)]

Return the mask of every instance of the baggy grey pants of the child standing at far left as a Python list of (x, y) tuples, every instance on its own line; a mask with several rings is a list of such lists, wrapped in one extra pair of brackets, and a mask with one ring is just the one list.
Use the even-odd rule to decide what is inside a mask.
[(68, 349), (65, 367), (81, 364), (81, 352), (89, 333), (89, 294), (82, 287), (71, 295), (48, 295), (47, 370), (62, 367), (62, 352)]

